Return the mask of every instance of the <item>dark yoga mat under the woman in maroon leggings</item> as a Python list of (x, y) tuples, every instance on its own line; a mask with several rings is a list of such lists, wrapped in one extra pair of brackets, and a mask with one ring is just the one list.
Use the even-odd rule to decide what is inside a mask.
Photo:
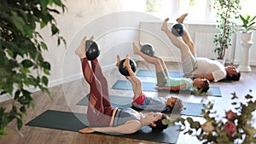
[[(79, 120), (80, 118), (83, 120), (83, 122)], [(86, 127), (86, 124), (88, 124), (86, 114), (47, 110), (40, 114), (38, 117), (32, 119), (32, 121), (28, 122), (26, 125), (55, 130), (78, 131)], [(112, 136), (145, 141), (156, 141), (162, 143), (177, 143), (177, 138), (179, 135), (179, 132), (177, 131), (178, 129), (180, 129), (180, 125), (169, 126), (166, 130), (162, 132), (154, 132), (151, 130), (151, 128), (146, 126), (143, 127), (142, 130), (139, 130), (134, 134)], [(103, 133), (94, 134), (109, 135)]]

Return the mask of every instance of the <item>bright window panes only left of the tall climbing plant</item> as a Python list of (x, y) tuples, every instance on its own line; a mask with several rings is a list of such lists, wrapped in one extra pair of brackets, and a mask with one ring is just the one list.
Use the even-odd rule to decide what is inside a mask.
[(211, 0), (146, 0), (146, 12), (162, 19), (189, 13), (189, 21), (210, 21)]

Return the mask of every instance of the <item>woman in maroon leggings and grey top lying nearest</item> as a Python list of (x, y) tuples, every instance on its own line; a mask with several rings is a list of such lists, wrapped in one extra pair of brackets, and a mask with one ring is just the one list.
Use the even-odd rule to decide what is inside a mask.
[[(93, 40), (93, 36), (90, 40)], [(141, 130), (143, 126), (150, 126), (152, 130), (165, 130), (168, 125), (162, 124), (162, 119), (167, 118), (166, 114), (160, 112), (141, 113), (131, 107), (119, 109), (111, 107), (109, 101), (108, 81), (102, 72), (97, 59), (90, 63), (85, 55), (84, 37), (75, 50), (82, 63), (84, 79), (90, 84), (89, 106), (87, 118), (91, 127), (79, 130), (80, 133), (114, 133), (131, 134)]]

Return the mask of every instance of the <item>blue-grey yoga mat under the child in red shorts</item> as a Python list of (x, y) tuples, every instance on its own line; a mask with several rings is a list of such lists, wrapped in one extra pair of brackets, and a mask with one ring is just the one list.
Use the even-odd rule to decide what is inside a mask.
[[(110, 95), (110, 101), (112, 107), (125, 108), (131, 107), (132, 98), (127, 96), (118, 96), (118, 95)], [(88, 106), (88, 95), (84, 96), (84, 98), (77, 103), (77, 105)], [(203, 104), (201, 103), (192, 103), (186, 102), (184, 103), (184, 109), (180, 114), (186, 116), (194, 116), (194, 117), (202, 117), (201, 109), (203, 109)]]

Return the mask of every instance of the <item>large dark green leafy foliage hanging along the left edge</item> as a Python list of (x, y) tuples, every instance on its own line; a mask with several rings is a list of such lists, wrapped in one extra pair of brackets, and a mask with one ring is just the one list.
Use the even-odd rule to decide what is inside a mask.
[(53, 17), (60, 14), (57, 8), (61, 13), (66, 10), (61, 0), (0, 0), (0, 96), (13, 98), (10, 110), (0, 107), (0, 135), (7, 134), (6, 126), (13, 120), (20, 130), (26, 110), (34, 107), (26, 88), (51, 95), (47, 88), (50, 64), (42, 55), (48, 47), (37, 30), (49, 26), (57, 44), (66, 44)]

